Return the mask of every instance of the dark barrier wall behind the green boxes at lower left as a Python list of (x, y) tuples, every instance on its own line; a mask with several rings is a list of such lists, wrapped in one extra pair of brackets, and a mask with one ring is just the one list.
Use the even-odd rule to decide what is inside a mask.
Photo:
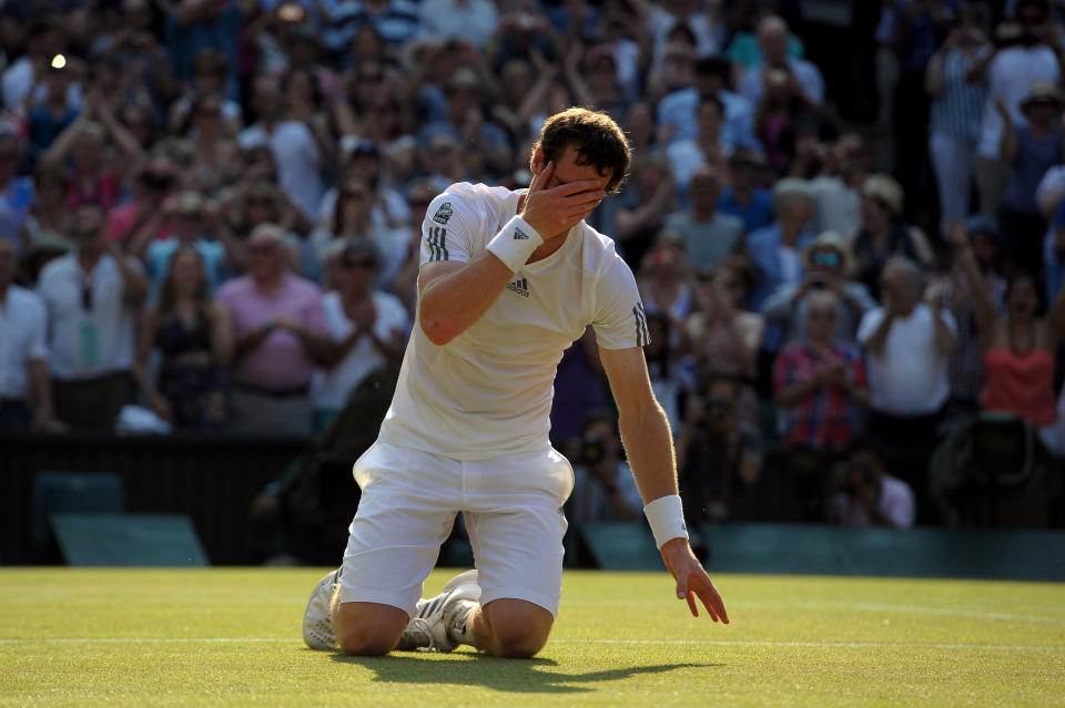
[(125, 511), (189, 514), (212, 564), (247, 563), (248, 505), (308, 447), (280, 438), (0, 435), (0, 564), (59, 561), (31, 536), (42, 471), (114, 472)]

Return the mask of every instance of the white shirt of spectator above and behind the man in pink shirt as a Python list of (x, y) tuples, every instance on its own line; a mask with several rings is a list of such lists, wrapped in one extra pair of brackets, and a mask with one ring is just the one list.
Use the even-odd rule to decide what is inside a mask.
[(300, 121), (282, 121), (267, 133), (256, 123), (241, 131), (242, 148), (270, 145), (277, 163), (277, 183), (307, 216), (318, 213), (325, 183), (322, 179), (322, 155), (311, 129)]

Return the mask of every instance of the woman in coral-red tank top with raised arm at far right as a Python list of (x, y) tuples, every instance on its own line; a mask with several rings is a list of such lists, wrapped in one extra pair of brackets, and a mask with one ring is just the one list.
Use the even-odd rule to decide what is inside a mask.
[(980, 394), (981, 407), (1016, 413), (1041, 429), (1053, 425), (1057, 420), (1054, 351), (1065, 331), (1065, 288), (1054, 298), (1049, 312), (1041, 317), (1035, 279), (1024, 273), (1014, 275), (1006, 286), (1006, 310), (1000, 312), (965, 227), (953, 225), (951, 239), (971, 285), (984, 351), (987, 380)]

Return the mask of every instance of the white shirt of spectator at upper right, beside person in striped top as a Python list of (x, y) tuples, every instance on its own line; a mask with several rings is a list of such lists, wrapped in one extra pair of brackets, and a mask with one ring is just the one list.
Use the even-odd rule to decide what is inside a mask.
[(1015, 126), (1027, 125), (1021, 113), (1021, 101), (1028, 95), (1032, 84), (1037, 81), (1061, 82), (1057, 60), (1049, 47), (1010, 47), (998, 52), (987, 66), (987, 103), (980, 124), (981, 157), (998, 157), (998, 141), (1002, 138), (1002, 116), (995, 107), (995, 100), (1002, 98), (1010, 106)]

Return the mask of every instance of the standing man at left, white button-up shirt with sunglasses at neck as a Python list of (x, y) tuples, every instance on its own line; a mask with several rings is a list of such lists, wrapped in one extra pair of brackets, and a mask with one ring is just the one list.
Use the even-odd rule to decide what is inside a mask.
[(133, 401), (133, 316), (148, 294), (140, 263), (109, 243), (103, 217), (94, 202), (77, 207), (74, 253), (44, 266), (37, 286), (51, 322), (55, 414), (85, 428), (109, 428)]

